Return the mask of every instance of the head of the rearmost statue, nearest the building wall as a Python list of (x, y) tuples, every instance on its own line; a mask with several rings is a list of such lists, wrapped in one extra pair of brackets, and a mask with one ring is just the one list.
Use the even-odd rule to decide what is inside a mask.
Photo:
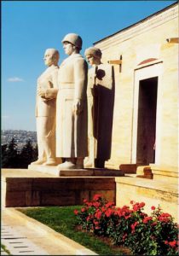
[(96, 47), (90, 47), (85, 49), (84, 55), (91, 66), (101, 64), (101, 49)]

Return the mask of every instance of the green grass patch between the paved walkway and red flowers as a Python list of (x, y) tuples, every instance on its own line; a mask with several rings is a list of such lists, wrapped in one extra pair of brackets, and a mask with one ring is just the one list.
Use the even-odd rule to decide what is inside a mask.
[(84, 247), (100, 255), (129, 255), (122, 248), (109, 244), (108, 241), (102, 241), (98, 236), (87, 232), (77, 230), (77, 220), (73, 213), (74, 209), (81, 209), (80, 206), (72, 207), (31, 207), (18, 208), (20, 212), (25, 213), (31, 218), (46, 224), (51, 229), (67, 236), (73, 241), (77, 241)]

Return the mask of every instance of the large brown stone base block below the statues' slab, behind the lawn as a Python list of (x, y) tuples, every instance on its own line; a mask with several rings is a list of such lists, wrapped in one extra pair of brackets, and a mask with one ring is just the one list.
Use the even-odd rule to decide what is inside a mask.
[(26, 169), (2, 171), (4, 207), (81, 205), (95, 194), (115, 202), (115, 177), (53, 177)]

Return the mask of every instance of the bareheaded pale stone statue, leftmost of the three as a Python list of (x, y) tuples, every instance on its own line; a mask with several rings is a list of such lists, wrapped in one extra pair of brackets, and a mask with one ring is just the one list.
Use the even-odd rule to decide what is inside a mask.
[(46, 49), (43, 60), (48, 67), (38, 78), (36, 100), (38, 160), (32, 165), (56, 165), (55, 118), (59, 58), (58, 50)]

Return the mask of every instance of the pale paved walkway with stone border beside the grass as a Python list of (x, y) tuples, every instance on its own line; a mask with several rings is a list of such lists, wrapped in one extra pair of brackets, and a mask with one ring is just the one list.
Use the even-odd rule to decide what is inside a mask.
[(1, 244), (11, 255), (96, 255), (14, 208), (2, 210)]

